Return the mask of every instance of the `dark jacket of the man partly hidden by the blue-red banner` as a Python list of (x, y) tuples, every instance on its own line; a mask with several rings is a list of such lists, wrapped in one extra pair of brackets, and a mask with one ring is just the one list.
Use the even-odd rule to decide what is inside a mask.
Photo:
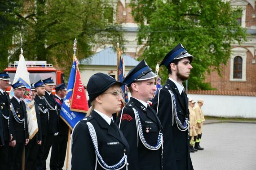
[[(54, 95), (54, 98), (57, 104), (58, 115), (60, 115), (63, 99), (59, 99), (56, 95)], [(59, 117), (59, 134), (58, 135), (65, 135), (65, 136), (68, 135), (68, 126), (60, 117)]]

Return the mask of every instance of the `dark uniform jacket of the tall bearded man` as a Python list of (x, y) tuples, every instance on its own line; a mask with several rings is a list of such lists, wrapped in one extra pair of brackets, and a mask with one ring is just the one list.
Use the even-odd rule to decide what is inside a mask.
[[(163, 85), (160, 90), (160, 97), (158, 101), (157, 93), (153, 99), (153, 108), (157, 110), (158, 117), (163, 126), (163, 169), (164, 170), (193, 170), (190, 159), (189, 149), (189, 131), (180, 131), (177, 127), (175, 118), (172, 117), (172, 100), (171, 90), (174, 93), (177, 105), (177, 115), (182, 125), (184, 125), (185, 118), (189, 119), (188, 98), (182, 92), (181, 95), (177, 86), (171, 81)], [(173, 119), (173, 126), (172, 126)]]

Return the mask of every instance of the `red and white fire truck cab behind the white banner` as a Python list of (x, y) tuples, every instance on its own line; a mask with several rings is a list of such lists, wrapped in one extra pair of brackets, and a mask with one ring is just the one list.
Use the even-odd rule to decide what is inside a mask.
[[(8, 71), (10, 76), (10, 84), (13, 83), (13, 79), (18, 67), (18, 62), (15, 61), (14, 64), (9, 64), (4, 71)], [(53, 68), (53, 64), (47, 64), (46, 61), (26, 61), (27, 71), (29, 73), (30, 83), (35, 83), (37, 81), (47, 79), (52, 77), (56, 85), (64, 82), (64, 73), (61, 70), (56, 70)], [(10, 87), (9, 87), (10, 88)], [(9, 91), (10, 89), (6, 89)], [(54, 90), (55, 91), (55, 90)]]

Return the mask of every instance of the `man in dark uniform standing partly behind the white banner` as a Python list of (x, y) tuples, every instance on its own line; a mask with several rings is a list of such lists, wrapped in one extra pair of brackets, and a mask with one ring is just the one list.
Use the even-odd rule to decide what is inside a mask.
[[(36, 89), (34, 84), (31, 84), (31, 93), (33, 100), (36, 96)], [(35, 114), (37, 120), (38, 132), (36, 132), (35, 136), (29, 141), (29, 143), (25, 147), (25, 170), (36, 170), (36, 157), (38, 154), (38, 149), (42, 144), (42, 128), (40, 122), (40, 110), (38, 108), (38, 104), (35, 103)]]

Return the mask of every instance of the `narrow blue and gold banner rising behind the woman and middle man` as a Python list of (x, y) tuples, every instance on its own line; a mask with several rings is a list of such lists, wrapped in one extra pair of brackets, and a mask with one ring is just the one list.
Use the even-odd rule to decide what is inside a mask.
[[(124, 80), (124, 77), (125, 77), (125, 75), (124, 75), (124, 71), (125, 71), (125, 67), (124, 67), (124, 59), (123, 59), (123, 56), (122, 56), (122, 52), (121, 51), (119, 51), (119, 47), (118, 47), (118, 50), (117, 50), (117, 72), (118, 72), (118, 79), (117, 79), (117, 81), (120, 81), (120, 82), (122, 82), (123, 80)], [(121, 89), (123, 90), (123, 93), (124, 93), (124, 96), (123, 96), (123, 98), (124, 98), (124, 101), (125, 101), (125, 103), (127, 103), (128, 102), (128, 93), (127, 93), (127, 86), (126, 85), (123, 85), (122, 87), (121, 87)]]

